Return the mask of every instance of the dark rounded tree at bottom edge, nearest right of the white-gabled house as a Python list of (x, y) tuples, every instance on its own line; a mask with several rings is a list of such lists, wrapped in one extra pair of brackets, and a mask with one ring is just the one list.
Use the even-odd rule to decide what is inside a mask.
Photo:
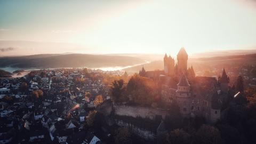
[(125, 127), (118, 128), (115, 131), (115, 143), (122, 143), (122, 144), (130, 144), (132, 143), (131, 139), (131, 133), (129, 132), (129, 129)]

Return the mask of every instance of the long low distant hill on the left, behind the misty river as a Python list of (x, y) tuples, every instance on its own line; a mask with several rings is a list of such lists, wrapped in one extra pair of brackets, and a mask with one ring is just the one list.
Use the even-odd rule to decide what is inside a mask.
[(93, 54), (37, 54), (20, 57), (1, 57), (0, 67), (62, 68), (62, 67), (125, 67), (144, 63), (145, 60)]

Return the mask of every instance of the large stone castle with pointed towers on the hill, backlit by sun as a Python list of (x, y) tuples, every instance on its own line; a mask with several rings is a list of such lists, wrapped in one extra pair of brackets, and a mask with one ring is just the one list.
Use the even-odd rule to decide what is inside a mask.
[(202, 116), (207, 122), (217, 122), (221, 117), (222, 103), (230, 98), (229, 77), (223, 69), (218, 79), (195, 75), (193, 66), (187, 66), (188, 54), (181, 48), (177, 64), (167, 54), (164, 56), (164, 70), (146, 71), (140, 76), (154, 79), (161, 85), (161, 100), (165, 105), (177, 102), (184, 117)]

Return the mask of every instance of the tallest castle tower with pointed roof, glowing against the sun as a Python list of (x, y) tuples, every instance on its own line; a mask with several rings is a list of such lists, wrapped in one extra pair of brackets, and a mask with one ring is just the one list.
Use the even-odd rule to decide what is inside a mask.
[(179, 75), (187, 72), (187, 64), (188, 64), (188, 54), (184, 47), (182, 47), (177, 54), (178, 60), (178, 73)]

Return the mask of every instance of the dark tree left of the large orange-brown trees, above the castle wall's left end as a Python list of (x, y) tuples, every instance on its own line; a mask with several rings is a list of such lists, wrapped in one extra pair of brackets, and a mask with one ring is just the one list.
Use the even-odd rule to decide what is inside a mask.
[(123, 102), (126, 99), (124, 93), (125, 93), (125, 84), (123, 79), (119, 79), (118, 81), (115, 80), (112, 83), (112, 87), (111, 87), (111, 98), (115, 102)]

